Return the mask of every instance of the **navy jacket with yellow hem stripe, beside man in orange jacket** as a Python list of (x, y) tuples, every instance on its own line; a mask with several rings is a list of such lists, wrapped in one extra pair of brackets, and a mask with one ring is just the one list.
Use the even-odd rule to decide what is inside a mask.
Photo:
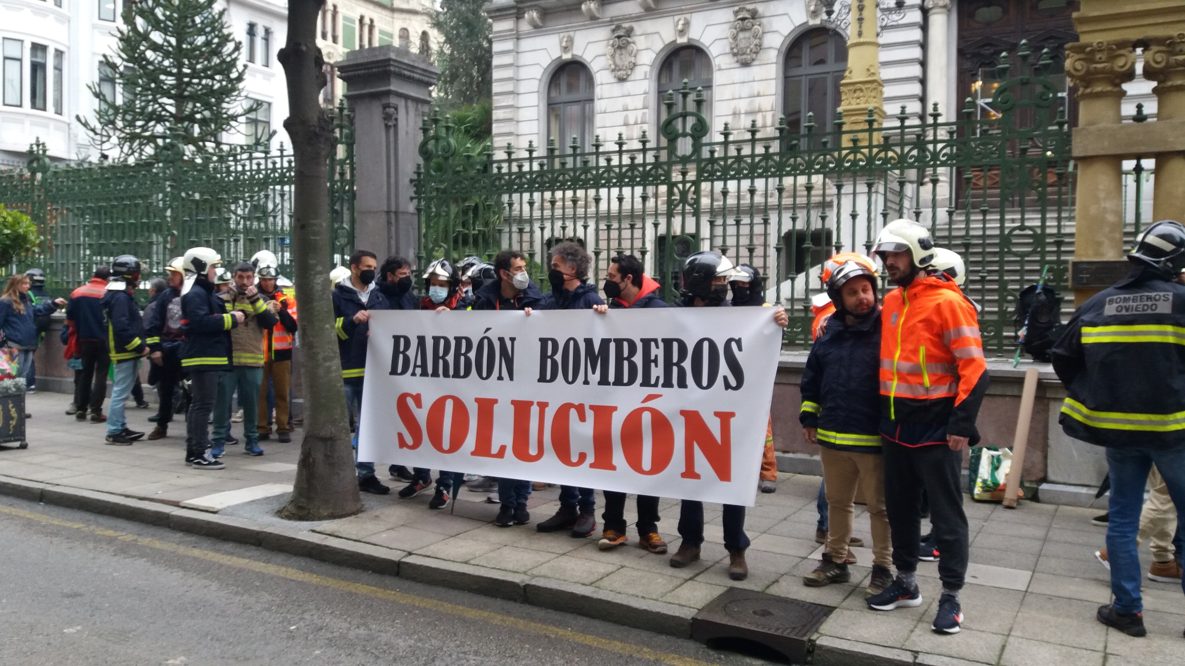
[(832, 318), (802, 371), (799, 422), (818, 429), (820, 447), (880, 453), (880, 315), (848, 326)]

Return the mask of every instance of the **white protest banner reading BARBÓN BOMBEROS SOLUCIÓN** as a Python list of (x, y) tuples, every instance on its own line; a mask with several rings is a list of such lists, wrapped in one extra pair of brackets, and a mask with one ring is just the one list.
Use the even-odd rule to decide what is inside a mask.
[(358, 459), (752, 506), (774, 308), (383, 312)]

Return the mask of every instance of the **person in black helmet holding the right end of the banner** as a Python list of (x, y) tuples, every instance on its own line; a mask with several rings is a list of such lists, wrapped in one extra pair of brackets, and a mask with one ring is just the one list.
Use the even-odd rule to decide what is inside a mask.
[[(725, 300), (729, 277), (736, 274), (732, 262), (715, 251), (696, 252), (687, 257), (683, 268), (683, 289), (674, 307), (728, 307)], [(777, 308), (774, 320), (786, 327), (789, 319), (786, 310)], [(729, 551), (729, 577), (744, 581), (749, 577), (749, 565), (744, 552), (749, 537), (744, 533), (744, 507), (724, 505), (724, 547)], [(671, 556), (671, 566), (681, 569), (699, 559), (699, 547), (704, 543), (704, 502), (683, 500), (679, 511), (679, 550)]]

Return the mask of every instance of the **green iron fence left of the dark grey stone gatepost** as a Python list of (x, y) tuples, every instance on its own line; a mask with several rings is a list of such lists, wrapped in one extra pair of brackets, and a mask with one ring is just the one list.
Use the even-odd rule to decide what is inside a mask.
[[(340, 264), (353, 250), (354, 136), (345, 103), (329, 114), (329, 252)], [(0, 172), (0, 204), (30, 214), (41, 230), (39, 250), (15, 268), (43, 268), (56, 294), (115, 256), (135, 255), (145, 276), (156, 276), (198, 245), (228, 263), (271, 250), (290, 278), (293, 168), (282, 143), (270, 154), (230, 147), (191, 160), (166, 148), (152, 161), (51, 166), (37, 141), (26, 168)]]

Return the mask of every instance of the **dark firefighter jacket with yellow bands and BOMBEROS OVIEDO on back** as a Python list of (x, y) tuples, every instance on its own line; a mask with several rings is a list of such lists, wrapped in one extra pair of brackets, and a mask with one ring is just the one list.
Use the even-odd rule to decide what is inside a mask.
[(1103, 447), (1185, 441), (1185, 287), (1132, 271), (1082, 303), (1051, 354), (1066, 435)]

